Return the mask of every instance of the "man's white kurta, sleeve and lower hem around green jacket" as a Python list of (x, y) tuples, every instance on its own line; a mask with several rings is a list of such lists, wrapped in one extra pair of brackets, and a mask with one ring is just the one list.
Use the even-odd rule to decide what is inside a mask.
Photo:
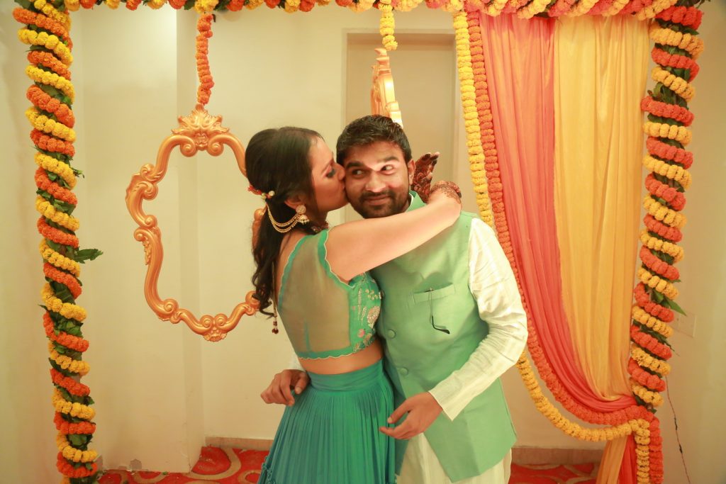
[[(491, 227), (475, 218), (469, 235), (469, 288), (489, 335), (468, 361), (429, 393), (454, 419), (470, 401), (513, 366), (524, 350), (527, 321), (509, 261)], [(452, 435), (452, 438), (456, 438)], [(507, 484), (511, 451), (483, 474), (457, 484)], [(451, 484), (425, 435), (409, 440), (399, 484)]]

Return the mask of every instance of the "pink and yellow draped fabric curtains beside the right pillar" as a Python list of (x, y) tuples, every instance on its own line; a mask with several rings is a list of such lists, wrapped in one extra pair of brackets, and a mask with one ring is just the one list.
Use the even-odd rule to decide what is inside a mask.
[[(480, 17), (505, 216), (529, 317), (571, 397), (607, 413), (635, 404), (625, 369), (645, 70), (634, 57), (647, 54), (648, 38), (634, 19), (576, 22), (583, 20), (581, 32), (569, 19)], [(563, 202), (568, 218), (558, 213)], [(582, 307), (575, 298), (589, 312), (573, 311)], [(598, 482), (635, 482), (634, 451), (632, 438), (608, 442)]]

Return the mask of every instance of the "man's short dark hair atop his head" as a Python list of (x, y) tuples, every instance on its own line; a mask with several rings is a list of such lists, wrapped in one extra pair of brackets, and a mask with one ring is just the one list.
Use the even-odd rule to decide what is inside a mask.
[(399, 123), (391, 118), (381, 115), (367, 115), (352, 121), (343, 129), (338, 136), (338, 143), (335, 146), (335, 160), (343, 165), (348, 156), (348, 151), (352, 147), (367, 146), (376, 141), (390, 141), (401, 148), (404, 161), (408, 163), (411, 160), (411, 146), (408, 138)]

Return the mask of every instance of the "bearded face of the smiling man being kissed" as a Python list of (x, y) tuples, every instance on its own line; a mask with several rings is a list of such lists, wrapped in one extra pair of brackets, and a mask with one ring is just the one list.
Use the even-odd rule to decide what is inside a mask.
[(387, 217), (408, 208), (413, 160), (390, 141), (353, 147), (343, 160), (346, 194), (364, 218)]

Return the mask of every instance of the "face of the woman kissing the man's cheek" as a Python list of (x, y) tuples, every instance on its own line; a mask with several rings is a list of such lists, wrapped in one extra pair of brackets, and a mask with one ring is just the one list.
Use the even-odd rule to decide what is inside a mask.
[[(343, 183), (343, 168), (333, 160), (333, 152), (325, 141), (314, 138), (310, 147), (310, 168), (317, 210), (325, 217), (331, 210), (348, 203), (346, 185)], [(313, 208), (308, 205), (309, 208)]]

